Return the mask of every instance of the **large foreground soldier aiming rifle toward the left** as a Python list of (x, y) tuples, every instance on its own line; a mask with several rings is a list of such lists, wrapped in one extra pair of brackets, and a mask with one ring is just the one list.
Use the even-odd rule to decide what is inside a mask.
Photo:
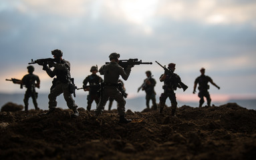
[[(38, 63), (43, 65), (43, 70), (49, 75), (49, 77), (56, 78), (53, 79), (49, 98), (49, 111), (46, 114), (49, 114), (54, 111), (57, 107), (56, 98), (61, 93), (63, 93), (64, 99), (67, 102), (67, 105), (70, 109), (73, 110), (72, 117), (78, 117), (78, 105), (76, 105), (72, 93), (75, 91), (74, 79), (70, 75), (70, 62), (62, 59), (63, 53), (59, 49), (51, 51), (54, 59), (38, 59), (37, 61), (32, 61), (32, 63)], [(53, 71), (50, 67), (54, 67)], [(74, 94), (75, 96), (75, 94)]]

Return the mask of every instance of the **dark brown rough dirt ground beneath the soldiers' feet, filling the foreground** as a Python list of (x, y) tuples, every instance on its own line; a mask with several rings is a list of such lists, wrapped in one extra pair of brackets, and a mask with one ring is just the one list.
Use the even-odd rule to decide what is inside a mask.
[(99, 117), (79, 108), (0, 113), (0, 159), (256, 159), (256, 111), (228, 103), (182, 106), (176, 117), (116, 109)]

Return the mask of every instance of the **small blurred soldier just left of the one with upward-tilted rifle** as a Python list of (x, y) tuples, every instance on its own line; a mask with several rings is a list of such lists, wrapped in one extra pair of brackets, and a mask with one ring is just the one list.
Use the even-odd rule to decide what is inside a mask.
[(156, 110), (156, 92), (154, 91), (154, 86), (156, 85), (156, 80), (152, 78), (151, 71), (146, 71), (146, 79), (144, 79), (144, 83), (138, 88), (138, 91), (142, 89), (142, 91), (146, 92), (146, 107), (149, 109), (149, 101), (152, 100), (153, 107), (152, 109)]

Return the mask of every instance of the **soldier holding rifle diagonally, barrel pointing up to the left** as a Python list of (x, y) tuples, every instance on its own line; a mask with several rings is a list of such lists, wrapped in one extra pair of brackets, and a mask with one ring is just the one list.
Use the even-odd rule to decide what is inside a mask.
[[(156, 63), (158, 62), (156, 61)], [(158, 65), (160, 65), (160, 63), (158, 63)], [(164, 68), (164, 74), (160, 76), (160, 81), (164, 82), (164, 86), (162, 87), (164, 89), (164, 93), (162, 93), (159, 97), (160, 99), (159, 113), (162, 113), (162, 110), (164, 109), (165, 101), (167, 97), (169, 97), (170, 103), (171, 103), (171, 109), (172, 109), (171, 116), (175, 115), (175, 111), (177, 108), (176, 95), (174, 91), (176, 91), (177, 87), (182, 88), (183, 91), (185, 91), (188, 88), (186, 85), (184, 85), (184, 83), (181, 82), (180, 77), (176, 73), (174, 73), (175, 65), (176, 64), (174, 63), (169, 63), (168, 69), (166, 69), (165, 66), (162, 67), (162, 65), (160, 65), (162, 68)]]

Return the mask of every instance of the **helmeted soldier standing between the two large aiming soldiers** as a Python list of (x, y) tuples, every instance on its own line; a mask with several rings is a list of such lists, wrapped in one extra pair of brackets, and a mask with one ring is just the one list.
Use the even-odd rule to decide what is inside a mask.
[[(100, 83), (103, 82), (102, 77), (96, 75), (98, 72), (98, 67), (92, 66), (90, 72), (92, 72), (92, 75), (88, 75), (86, 79), (83, 81), (83, 88), (84, 91), (89, 91), (89, 94), (87, 96), (87, 110), (90, 111), (92, 107), (92, 102), (95, 101), (98, 105), (100, 101)], [(90, 86), (86, 86), (87, 83), (89, 83)]]

